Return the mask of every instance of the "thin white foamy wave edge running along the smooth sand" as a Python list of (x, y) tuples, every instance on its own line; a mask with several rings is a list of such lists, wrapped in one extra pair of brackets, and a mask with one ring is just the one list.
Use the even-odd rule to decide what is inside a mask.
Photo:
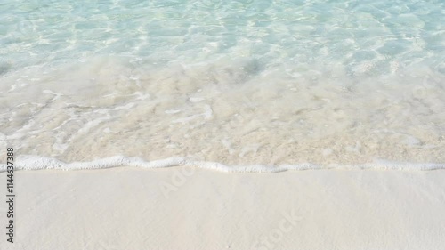
[[(373, 163), (359, 165), (316, 165), (303, 163), (297, 165), (223, 165), (217, 162), (198, 161), (187, 157), (170, 157), (153, 161), (145, 161), (140, 157), (107, 157), (89, 162), (65, 163), (56, 158), (21, 156), (14, 164), (15, 170), (87, 170), (104, 169), (112, 167), (141, 167), (166, 168), (174, 166), (190, 166), (223, 173), (279, 173), (284, 171), (300, 170), (399, 170), (399, 171), (427, 171), (445, 169), (445, 164), (436, 163), (396, 163), (385, 160), (376, 160)], [(6, 171), (6, 165), (0, 165), (0, 172)]]

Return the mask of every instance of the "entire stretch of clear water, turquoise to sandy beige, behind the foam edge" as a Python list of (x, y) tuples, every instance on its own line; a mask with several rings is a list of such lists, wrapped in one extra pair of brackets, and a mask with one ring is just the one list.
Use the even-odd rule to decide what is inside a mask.
[(22, 155), (445, 163), (445, 1), (8, 2)]

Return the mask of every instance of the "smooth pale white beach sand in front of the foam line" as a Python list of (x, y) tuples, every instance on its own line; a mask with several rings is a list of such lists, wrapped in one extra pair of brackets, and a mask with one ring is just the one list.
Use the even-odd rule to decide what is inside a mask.
[[(5, 173), (0, 176), (4, 183)], [(15, 243), (2, 233), (0, 249), (445, 246), (445, 171), (440, 170), (114, 168), (19, 171), (15, 178)], [(3, 225), (5, 206), (0, 209)]]

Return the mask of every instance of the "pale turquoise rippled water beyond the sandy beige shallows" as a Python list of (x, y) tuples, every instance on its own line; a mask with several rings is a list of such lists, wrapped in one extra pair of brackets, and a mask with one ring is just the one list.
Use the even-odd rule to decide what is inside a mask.
[(351, 75), (425, 63), (445, 73), (444, 1), (43, 0), (0, 8), (3, 74), (109, 54), (147, 63), (248, 56), (263, 68), (324, 61)]

